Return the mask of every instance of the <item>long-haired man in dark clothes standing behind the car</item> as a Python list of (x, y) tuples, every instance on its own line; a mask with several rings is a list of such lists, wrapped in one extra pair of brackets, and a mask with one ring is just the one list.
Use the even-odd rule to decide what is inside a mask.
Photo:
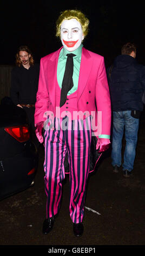
[(11, 72), (11, 99), (27, 113), (32, 138), (36, 147), (39, 142), (35, 136), (34, 113), (38, 89), (39, 65), (34, 63), (28, 46), (20, 46), (16, 53), (16, 67)]

